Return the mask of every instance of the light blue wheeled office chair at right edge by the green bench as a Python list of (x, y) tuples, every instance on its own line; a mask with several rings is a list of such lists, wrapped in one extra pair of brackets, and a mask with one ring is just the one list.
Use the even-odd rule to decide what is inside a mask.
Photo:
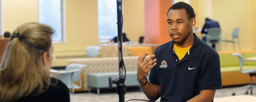
[[(232, 93), (232, 95), (234, 96), (235, 91), (238, 90), (238, 89), (242, 89), (242, 88), (247, 88), (246, 91), (245, 91), (245, 94), (248, 94), (249, 89), (251, 89), (251, 94), (252, 94), (252, 89), (256, 88), (256, 85), (253, 84), (253, 82), (252, 82), (252, 77), (256, 76), (256, 73), (255, 73), (256, 72), (256, 67), (255, 67), (255, 69), (243, 70), (244, 61), (247, 61), (247, 60), (244, 60), (243, 56), (240, 53), (232, 53), (232, 55), (238, 57), (241, 73), (250, 74), (250, 77), (251, 77), (251, 82), (250, 82), (249, 85), (245, 85), (245, 86), (242, 86), (242, 87), (239, 87), (239, 88), (235, 89), (234, 92)], [(248, 60), (248, 61), (250, 61), (250, 60)]]

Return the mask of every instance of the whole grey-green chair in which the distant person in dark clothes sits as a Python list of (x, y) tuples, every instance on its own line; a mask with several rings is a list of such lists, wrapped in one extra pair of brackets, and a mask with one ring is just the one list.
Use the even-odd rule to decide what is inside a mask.
[[(220, 41), (220, 28), (209, 28), (207, 32), (207, 43), (216, 44)], [(219, 48), (220, 49), (220, 48)]]

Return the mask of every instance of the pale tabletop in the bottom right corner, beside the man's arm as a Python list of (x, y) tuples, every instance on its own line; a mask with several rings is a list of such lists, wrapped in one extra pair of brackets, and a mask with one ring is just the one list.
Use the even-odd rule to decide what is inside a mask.
[(255, 102), (256, 96), (251, 95), (237, 95), (228, 97), (214, 98), (214, 102)]

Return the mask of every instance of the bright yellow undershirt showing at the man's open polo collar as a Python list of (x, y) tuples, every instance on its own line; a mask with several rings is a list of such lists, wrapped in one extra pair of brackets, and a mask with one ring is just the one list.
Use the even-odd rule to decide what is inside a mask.
[(179, 60), (181, 60), (185, 56), (185, 54), (188, 52), (188, 50), (190, 49), (191, 46), (185, 47), (185, 48), (180, 48), (180, 47), (176, 46), (175, 43), (173, 44), (174, 52), (178, 56)]

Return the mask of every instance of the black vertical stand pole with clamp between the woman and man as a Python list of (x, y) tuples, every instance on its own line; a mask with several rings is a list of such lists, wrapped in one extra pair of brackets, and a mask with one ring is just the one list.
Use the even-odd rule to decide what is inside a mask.
[[(124, 94), (125, 94), (125, 67), (122, 58), (122, 27), (123, 27), (123, 17), (122, 17), (122, 0), (117, 0), (117, 42), (118, 42), (118, 61), (119, 61), (119, 77), (117, 79), (112, 80), (112, 77), (109, 77), (109, 88), (112, 88), (112, 84), (115, 83), (117, 85), (116, 92), (119, 95), (119, 102), (124, 102)], [(124, 67), (124, 75), (123, 75), (123, 67)]]

